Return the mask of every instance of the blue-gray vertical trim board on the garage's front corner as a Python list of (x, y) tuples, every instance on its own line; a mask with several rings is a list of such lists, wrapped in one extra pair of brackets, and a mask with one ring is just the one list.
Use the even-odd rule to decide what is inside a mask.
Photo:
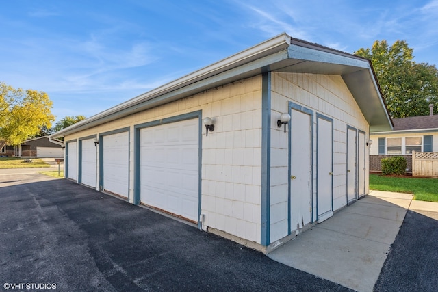
[(261, 75), (261, 239), (270, 244), (271, 72)]

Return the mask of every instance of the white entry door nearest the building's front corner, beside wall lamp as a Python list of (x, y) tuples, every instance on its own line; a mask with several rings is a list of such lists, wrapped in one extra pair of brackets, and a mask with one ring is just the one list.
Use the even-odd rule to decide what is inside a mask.
[(312, 119), (297, 109), (291, 111), (290, 229), (311, 222)]

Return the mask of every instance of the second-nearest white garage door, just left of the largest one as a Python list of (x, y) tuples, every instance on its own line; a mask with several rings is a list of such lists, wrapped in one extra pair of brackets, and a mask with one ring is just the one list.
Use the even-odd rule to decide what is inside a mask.
[(125, 198), (128, 197), (128, 132), (103, 136), (103, 189)]

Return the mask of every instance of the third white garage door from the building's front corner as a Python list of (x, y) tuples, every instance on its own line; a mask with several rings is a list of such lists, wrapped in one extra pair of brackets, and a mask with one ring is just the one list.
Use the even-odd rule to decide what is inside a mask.
[(82, 140), (81, 183), (96, 187), (96, 146), (94, 138)]

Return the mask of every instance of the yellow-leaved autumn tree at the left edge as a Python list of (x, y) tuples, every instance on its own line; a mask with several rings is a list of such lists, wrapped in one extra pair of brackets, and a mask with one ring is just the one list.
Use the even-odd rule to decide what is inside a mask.
[(15, 89), (0, 82), (0, 149), (20, 145), (42, 127), (51, 127), (52, 101), (45, 92)]

